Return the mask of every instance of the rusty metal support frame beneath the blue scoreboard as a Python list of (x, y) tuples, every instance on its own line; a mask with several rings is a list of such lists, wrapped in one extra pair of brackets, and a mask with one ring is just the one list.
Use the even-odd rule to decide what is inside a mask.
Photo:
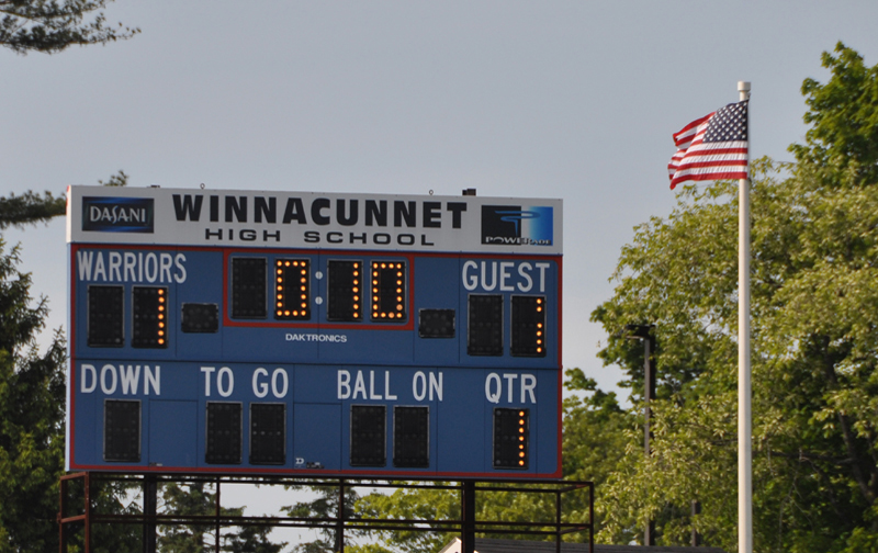
[[(70, 500), (69, 484), (82, 481), (83, 505), (81, 511), (68, 516), (68, 510), (74, 507)], [(92, 485), (98, 481), (128, 482), (132, 486), (142, 487), (144, 490), (144, 509), (137, 515), (109, 515), (98, 512), (92, 503)], [(216, 504), (213, 515), (161, 515), (157, 512), (157, 490), (160, 483), (211, 483), (216, 486)], [(306, 517), (246, 517), (223, 515), (219, 493), (222, 484), (250, 484), (250, 485), (295, 485), (295, 486), (333, 486), (338, 487), (338, 512), (335, 517), (306, 518)], [(350, 518), (345, 510), (346, 490), (357, 487), (367, 488), (429, 488), (447, 489), (460, 493), (460, 519), (365, 519)], [(476, 516), (476, 494), (480, 496), (495, 493), (525, 493), (525, 494), (552, 494), (554, 495), (555, 512), (550, 520), (509, 522), (502, 520), (481, 520)], [(587, 492), (588, 494), (588, 521), (563, 522), (562, 496), (564, 494)], [(551, 505), (551, 504), (550, 504)], [(524, 534), (554, 538), (555, 551), (561, 552), (562, 538), (570, 533), (588, 532), (589, 551), (594, 551), (594, 517), (595, 517), (595, 485), (592, 482), (564, 481), (564, 479), (496, 479), (462, 482), (449, 481), (373, 481), (351, 478), (290, 478), (290, 477), (240, 477), (240, 476), (205, 476), (205, 475), (178, 475), (178, 474), (114, 474), (114, 473), (75, 473), (61, 476), (60, 498), (58, 512), (58, 532), (60, 552), (67, 553), (67, 545), (72, 526), (85, 526), (85, 553), (92, 548), (91, 528), (94, 524), (142, 524), (144, 529), (143, 551), (155, 553), (156, 528), (175, 524), (211, 524), (215, 532), (216, 551), (219, 551), (222, 529), (224, 527), (293, 527), (336, 530), (336, 551), (345, 551), (346, 530), (375, 530), (375, 531), (419, 531), (419, 532), (454, 532), (460, 531), (463, 542), (462, 553), (472, 553), (475, 545), (475, 535), (480, 534)]]

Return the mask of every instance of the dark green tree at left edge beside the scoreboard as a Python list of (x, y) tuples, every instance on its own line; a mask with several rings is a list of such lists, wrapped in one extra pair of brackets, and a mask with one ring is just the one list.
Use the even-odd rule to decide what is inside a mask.
[(48, 313), (33, 305), (19, 249), (0, 238), (0, 552), (57, 548), (58, 477), (64, 470), (64, 336), (45, 352), (35, 337)]

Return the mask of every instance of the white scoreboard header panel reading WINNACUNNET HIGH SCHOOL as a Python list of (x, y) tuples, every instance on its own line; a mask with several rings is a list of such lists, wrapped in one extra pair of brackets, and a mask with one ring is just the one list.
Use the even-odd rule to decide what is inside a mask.
[(67, 241), (561, 255), (562, 201), (70, 187)]

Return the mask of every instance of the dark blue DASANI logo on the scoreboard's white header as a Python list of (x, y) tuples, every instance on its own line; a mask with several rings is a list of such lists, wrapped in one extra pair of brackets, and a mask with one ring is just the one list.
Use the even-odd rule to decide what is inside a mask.
[(83, 198), (82, 230), (153, 233), (151, 198)]

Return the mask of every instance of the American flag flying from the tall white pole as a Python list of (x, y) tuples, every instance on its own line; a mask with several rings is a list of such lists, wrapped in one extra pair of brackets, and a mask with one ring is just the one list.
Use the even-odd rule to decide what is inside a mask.
[(688, 181), (747, 178), (747, 101), (695, 120), (674, 134), (671, 189)]

